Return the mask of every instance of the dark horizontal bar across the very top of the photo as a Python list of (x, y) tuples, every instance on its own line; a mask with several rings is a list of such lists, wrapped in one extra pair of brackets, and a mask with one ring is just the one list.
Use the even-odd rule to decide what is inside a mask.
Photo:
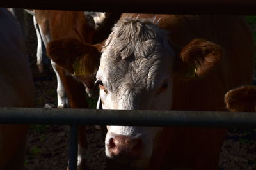
[(256, 15), (255, 0), (9, 0), (1, 1), (0, 6), (48, 10), (110, 11), (127, 13)]

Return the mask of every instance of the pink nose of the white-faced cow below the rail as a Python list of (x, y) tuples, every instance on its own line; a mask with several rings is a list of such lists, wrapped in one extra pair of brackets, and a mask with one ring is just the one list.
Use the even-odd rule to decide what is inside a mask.
[(143, 143), (140, 138), (132, 138), (126, 135), (115, 135), (110, 138), (108, 151), (114, 158), (136, 159), (140, 157)]

